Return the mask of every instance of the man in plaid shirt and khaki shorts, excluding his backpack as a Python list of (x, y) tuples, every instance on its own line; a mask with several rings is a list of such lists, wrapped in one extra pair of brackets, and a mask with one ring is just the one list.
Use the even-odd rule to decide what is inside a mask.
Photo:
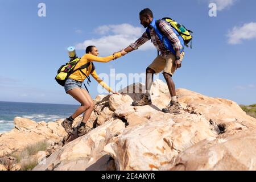
[(153, 75), (163, 71), (163, 76), (167, 82), (171, 94), (170, 104), (162, 109), (164, 113), (179, 113), (180, 105), (177, 102), (175, 84), (172, 75), (177, 68), (181, 67), (181, 60), (184, 57), (184, 42), (177, 32), (164, 20), (156, 21), (150, 9), (144, 9), (139, 13), (141, 24), (147, 30), (135, 43), (126, 47), (125, 52), (129, 53), (151, 39), (156, 49), (161, 53), (146, 69), (146, 94), (142, 94), (138, 101), (133, 102), (133, 106), (152, 104), (150, 98), (150, 88)]

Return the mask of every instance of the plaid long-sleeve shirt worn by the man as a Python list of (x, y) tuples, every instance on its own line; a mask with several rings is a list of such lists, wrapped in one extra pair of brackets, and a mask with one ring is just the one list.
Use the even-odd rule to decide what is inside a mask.
[[(181, 50), (182, 46), (180, 43), (179, 38), (175, 34), (174, 30), (172, 30), (172, 27), (170, 24), (168, 24), (166, 21), (161, 20), (159, 23), (160, 31), (163, 32), (164, 36), (166, 36), (172, 43), (172, 46), (174, 47), (175, 51)], [(150, 36), (151, 36), (151, 42), (154, 44), (156, 49), (161, 53), (162, 56), (170, 55), (172, 52), (167, 49), (163, 43), (159, 40), (158, 35), (156, 35), (156, 32), (153, 27), (150, 26)], [(134, 50), (138, 49), (142, 44), (146, 43), (150, 38), (147, 36), (147, 32), (144, 32), (138, 40), (135, 41), (135, 43), (130, 44), (130, 47), (132, 47)]]

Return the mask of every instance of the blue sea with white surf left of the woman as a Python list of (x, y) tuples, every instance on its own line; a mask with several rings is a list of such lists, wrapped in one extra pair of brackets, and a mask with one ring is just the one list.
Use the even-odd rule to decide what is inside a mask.
[(15, 117), (28, 118), (32, 121), (56, 121), (72, 115), (79, 105), (39, 104), (25, 102), (0, 101), (0, 134), (14, 128)]

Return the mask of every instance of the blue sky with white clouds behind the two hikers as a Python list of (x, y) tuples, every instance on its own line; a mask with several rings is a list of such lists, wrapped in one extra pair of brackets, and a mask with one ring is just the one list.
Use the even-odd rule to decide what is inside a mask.
[[(46, 4), (46, 17), (38, 4)], [(217, 3), (217, 16), (208, 5)], [(0, 0), (0, 101), (77, 104), (54, 80), (68, 61), (67, 47), (84, 54), (94, 44), (107, 56), (139, 38), (139, 11), (149, 7), (156, 19), (171, 16), (194, 31), (192, 49), (174, 75), (186, 88), (238, 104), (256, 103), (256, 13), (254, 0), (193, 1), (3, 1)], [(110, 63), (96, 63), (98, 74), (144, 73), (156, 57), (150, 42)], [(160, 79), (164, 80), (162, 74)], [(97, 82), (89, 86), (96, 97)]]

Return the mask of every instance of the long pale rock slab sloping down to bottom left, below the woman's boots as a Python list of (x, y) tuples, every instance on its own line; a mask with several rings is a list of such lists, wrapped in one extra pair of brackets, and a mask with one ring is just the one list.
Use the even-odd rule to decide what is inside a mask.
[(68, 143), (49, 156), (46, 159), (46, 164), (39, 164), (34, 170), (47, 170), (49, 167), (51, 168), (52, 164), (55, 171), (85, 170), (102, 157), (106, 143), (124, 128), (125, 124), (121, 120), (112, 119)]

